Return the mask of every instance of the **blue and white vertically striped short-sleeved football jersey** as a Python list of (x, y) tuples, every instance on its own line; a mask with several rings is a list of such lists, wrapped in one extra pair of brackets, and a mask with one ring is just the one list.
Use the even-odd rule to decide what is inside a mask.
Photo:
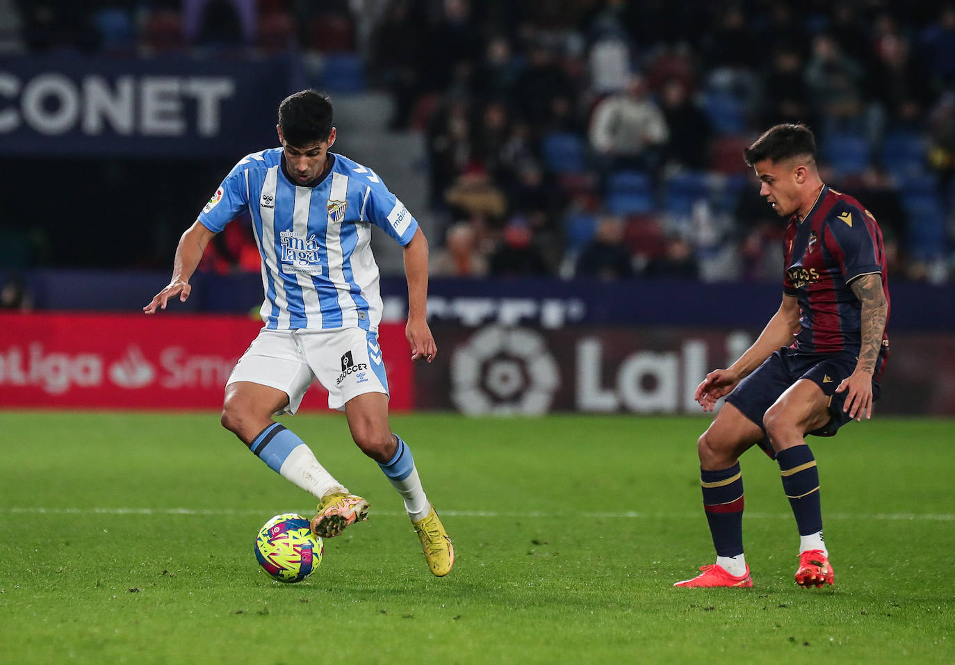
[(364, 328), (381, 322), (371, 225), (402, 246), (417, 220), (371, 169), (329, 153), (331, 169), (314, 187), (290, 182), (282, 148), (245, 156), (202, 209), (220, 232), (247, 208), (262, 255), (266, 328)]

